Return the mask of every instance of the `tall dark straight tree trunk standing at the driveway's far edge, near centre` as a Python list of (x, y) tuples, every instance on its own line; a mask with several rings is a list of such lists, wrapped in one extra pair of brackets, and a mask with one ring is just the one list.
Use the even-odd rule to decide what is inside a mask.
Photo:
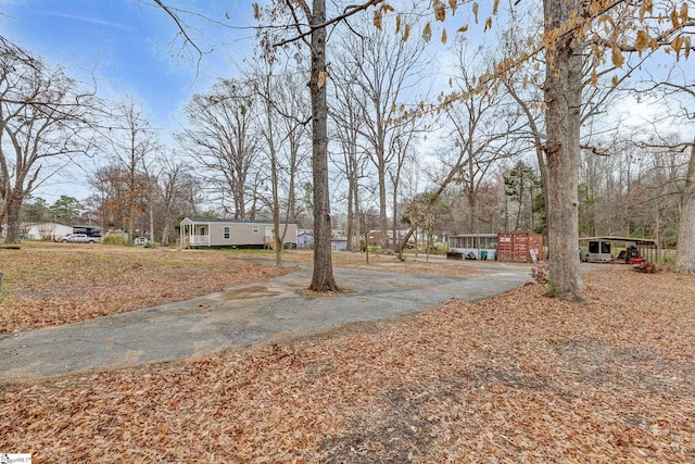
[(330, 192), (328, 186), (328, 102), (326, 100), (326, 0), (314, 0), (312, 32), (312, 168), (314, 176), (314, 273), (311, 290), (337, 291), (330, 248)]

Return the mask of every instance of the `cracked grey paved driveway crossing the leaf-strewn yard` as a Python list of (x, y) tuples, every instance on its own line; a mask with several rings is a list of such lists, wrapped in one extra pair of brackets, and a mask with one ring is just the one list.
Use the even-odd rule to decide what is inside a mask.
[(0, 337), (2, 383), (241, 349), (278, 337), (300, 337), (437, 306), (477, 301), (531, 280), (530, 266), (495, 262), (468, 275), (404, 274), (334, 268), (344, 292), (307, 296), (311, 266), (263, 283), (147, 310)]

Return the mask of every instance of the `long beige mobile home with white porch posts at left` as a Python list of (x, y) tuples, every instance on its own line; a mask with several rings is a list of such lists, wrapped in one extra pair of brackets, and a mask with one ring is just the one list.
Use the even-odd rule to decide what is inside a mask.
[[(280, 224), (279, 235), (283, 233), (285, 248), (296, 248), (296, 224)], [(186, 217), (180, 223), (180, 239), (187, 248), (271, 248), (275, 227), (264, 221)]]

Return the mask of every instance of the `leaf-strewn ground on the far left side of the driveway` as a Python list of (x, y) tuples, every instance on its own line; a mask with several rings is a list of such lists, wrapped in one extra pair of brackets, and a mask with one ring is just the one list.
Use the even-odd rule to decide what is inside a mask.
[(230, 252), (59, 243), (0, 250), (0, 334), (155, 306), (294, 272)]

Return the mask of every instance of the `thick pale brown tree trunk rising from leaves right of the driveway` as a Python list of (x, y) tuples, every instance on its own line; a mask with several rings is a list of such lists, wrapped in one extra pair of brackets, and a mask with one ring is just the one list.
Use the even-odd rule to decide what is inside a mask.
[(548, 46), (545, 81), (551, 291), (569, 301), (583, 300), (577, 255), (582, 46), (567, 28), (581, 17), (581, 0), (543, 1), (545, 33), (569, 30)]

